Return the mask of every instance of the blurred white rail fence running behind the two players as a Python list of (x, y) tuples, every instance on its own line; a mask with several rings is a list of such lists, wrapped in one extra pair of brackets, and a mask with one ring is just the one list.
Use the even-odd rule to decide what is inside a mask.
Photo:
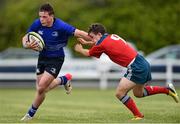
[[(35, 80), (36, 59), (14, 60), (0, 62), (0, 83)], [(149, 60), (152, 67), (153, 80), (163, 80), (165, 83), (180, 81), (180, 61), (178, 60)], [(160, 69), (160, 70), (159, 70)], [(96, 59), (68, 59), (65, 61), (60, 75), (71, 73), (74, 80), (99, 81), (99, 87), (106, 89), (109, 80), (120, 80), (126, 72), (111, 61), (97, 61)], [(175, 85), (180, 85), (177, 82)]]

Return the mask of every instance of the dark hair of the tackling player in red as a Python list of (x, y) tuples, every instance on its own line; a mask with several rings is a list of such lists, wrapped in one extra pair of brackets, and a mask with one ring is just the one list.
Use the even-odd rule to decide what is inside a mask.
[(88, 33), (91, 32), (93, 32), (94, 34), (101, 33), (102, 35), (104, 35), (106, 33), (106, 28), (102, 24), (95, 23), (89, 27)]

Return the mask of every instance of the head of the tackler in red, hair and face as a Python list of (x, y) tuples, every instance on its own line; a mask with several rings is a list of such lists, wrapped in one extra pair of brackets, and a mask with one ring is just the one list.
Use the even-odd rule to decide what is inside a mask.
[(102, 24), (95, 23), (89, 27), (88, 34), (92, 41), (97, 42), (106, 33), (106, 29)]

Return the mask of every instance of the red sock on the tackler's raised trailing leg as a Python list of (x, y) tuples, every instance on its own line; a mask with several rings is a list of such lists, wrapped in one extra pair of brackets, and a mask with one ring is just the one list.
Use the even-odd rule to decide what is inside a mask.
[(169, 89), (167, 87), (161, 87), (161, 86), (145, 86), (143, 97), (150, 96), (154, 94), (168, 94)]

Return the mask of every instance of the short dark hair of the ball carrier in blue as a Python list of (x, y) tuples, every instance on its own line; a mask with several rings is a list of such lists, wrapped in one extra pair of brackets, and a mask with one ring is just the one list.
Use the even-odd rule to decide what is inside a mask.
[(49, 3), (45, 3), (41, 5), (41, 7), (39, 8), (39, 12), (44, 12), (44, 11), (48, 12), (49, 15), (54, 15), (54, 9)]

